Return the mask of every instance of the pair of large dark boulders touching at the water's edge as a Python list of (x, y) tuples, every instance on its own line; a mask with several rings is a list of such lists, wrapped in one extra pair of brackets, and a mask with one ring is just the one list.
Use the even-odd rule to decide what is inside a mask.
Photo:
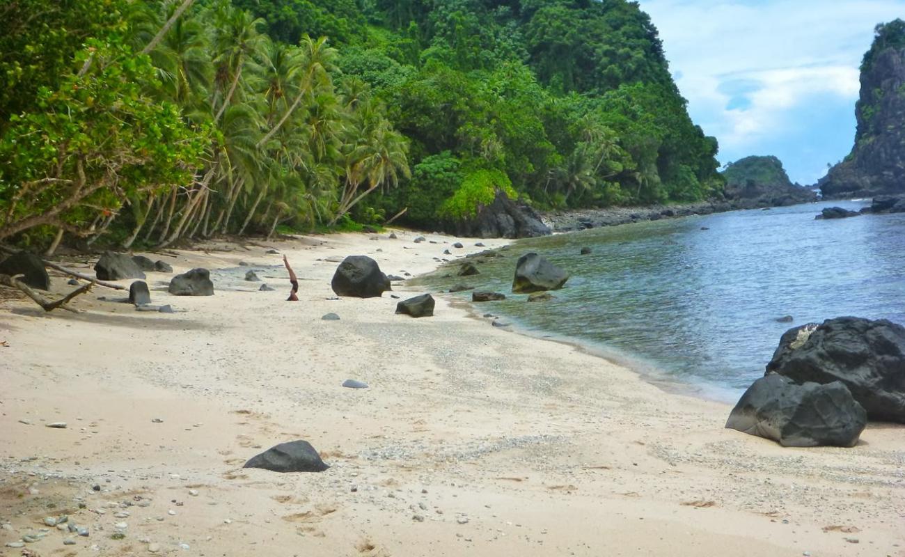
[(868, 420), (905, 423), (905, 327), (840, 317), (786, 331), (726, 427), (784, 447), (853, 447)]

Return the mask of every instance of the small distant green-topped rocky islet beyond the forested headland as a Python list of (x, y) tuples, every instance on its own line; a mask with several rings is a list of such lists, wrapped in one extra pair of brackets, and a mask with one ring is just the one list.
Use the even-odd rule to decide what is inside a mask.
[(739, 206), (786, 206), (815, 201), (817, 195), (793, 184), (776, 157), (746, 157), (723, 170), (724, 195)]

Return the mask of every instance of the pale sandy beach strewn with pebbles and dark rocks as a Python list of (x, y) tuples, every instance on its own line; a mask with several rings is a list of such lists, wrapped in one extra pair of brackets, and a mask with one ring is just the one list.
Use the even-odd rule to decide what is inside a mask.
[[(485, 249), (395, 234), (148, 254), (176, 273), (233, 269), (210, 297), (171, 296), (170, 275), (149, 273), (172, 314), (101, 287), (77, 314), (0, 300), (0, 555), (905, 556), (902, 426), (783, 448), (724, 429), (724, 403), (492, 327), (443, 294), (422, 319), (395, 315), (389, 293), (335, 299), (346, 255), (417, 275), (444, 249)], [(229, 278), (246, 269), (275, 291)], [(295, 439), (329, 470), (243, 469)], [(61, 514), (89, 535), (43, 523)], [(6, 546), (24, 535), (39, 539)]]

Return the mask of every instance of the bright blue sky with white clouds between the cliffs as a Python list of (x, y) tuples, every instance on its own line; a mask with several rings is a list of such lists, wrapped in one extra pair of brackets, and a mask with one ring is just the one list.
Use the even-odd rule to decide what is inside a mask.
[(905, 0), (639, 0), (719, 162), (775, 155), (814, 184), (852, 149), (858, 66)]

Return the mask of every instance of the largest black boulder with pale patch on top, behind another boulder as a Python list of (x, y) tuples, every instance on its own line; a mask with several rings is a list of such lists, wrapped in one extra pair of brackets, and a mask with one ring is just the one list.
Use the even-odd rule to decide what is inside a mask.
[(842, 381), (868, 418), (905, 423), (905, 327), (881, 319), (829, 319), (786, 331), (767, 373), (796, 383)]

